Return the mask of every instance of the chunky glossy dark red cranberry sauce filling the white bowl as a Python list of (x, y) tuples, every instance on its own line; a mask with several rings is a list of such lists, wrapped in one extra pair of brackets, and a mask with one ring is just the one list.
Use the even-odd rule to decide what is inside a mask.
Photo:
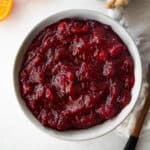
[(27, 107), (44, 126), (88, 128), (112, 119), (130, 102), (134, 64), (110, 26), (63, 19), (32, 41), (19, 84)]

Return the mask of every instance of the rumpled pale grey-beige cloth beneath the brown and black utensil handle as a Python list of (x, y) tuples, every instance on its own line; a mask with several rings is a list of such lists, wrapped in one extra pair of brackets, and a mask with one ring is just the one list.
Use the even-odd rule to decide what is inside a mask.
[[(141, 94), (137, 104), (131, 114), (124, 120), (124, 122), (117, 127), (114, 132), (128, 137), (133, 130), (136, 119), (140, 110), (143, 107), (145, 97), (147, 95), (147, 82), (146, 73), (147, 65), (150, 62), (150, 1), (149, 0), (134, 0), (126, 8), (117, 8), (108, 10), (108, 15), (117, 20), (123, 25), (126, 30), (131, 34), (139, 47), (140, 55), (142, 58), (143, 67), (143, 84)], [(146, 121), (143, 125), (141, 135), (150, 129), (150, 112), (147, 115)]]

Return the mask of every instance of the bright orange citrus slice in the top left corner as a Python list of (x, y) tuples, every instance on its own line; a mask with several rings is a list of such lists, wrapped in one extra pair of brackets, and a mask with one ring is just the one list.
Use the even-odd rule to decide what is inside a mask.
[(0, 21), (4, 20), (11, 12), (13, 0), (0, 0)]

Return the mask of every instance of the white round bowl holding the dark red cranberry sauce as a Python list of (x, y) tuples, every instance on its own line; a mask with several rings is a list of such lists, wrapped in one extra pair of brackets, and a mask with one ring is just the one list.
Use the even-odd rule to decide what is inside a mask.
[[(45, 128), (43, 127), (31, 114), (29, 109), (26, 107), (24, 101), (22, 100), (19, 92), (19, 83), (18, 83), (18, 73), (19, 68), (22, 62), (22, 58), (24, 56), (24, 53), (31, 43), (32, 39), (41, 31), (44, 27), (46, 27), (49, 24), (52, 24), (60, 19), (67, 18), (67, 17), (81, 17), (81, 18), (88, 18), (88, 19), (94, 19), (97, 21), (100, 21), (104, 24), (110, 25), (112, 29), (119, 35), (119, 37), (123, 40), (123, 42), (127, 45), (130, 54), (133, 57), (134, 60), (134, 74), (135, 74), (135, 84), (132, 89), (132, 99), (131, 102), (121, 111), (118, 116), (116, 116), (114, 119), (111, 119), (109, 121), (104, 122), (103, 124), (96, 125), (94, 127), (88, 128), (88, 129), (82, 129), (82, 130), (70, 130), (70, 131), (64, 131), (59, 132), (56, 130), (53, 130), (51, 128)], [(142, 82), (142, 67), (141, 67), (141, 60), (139, 56), (138, 49), (130, 37), (130, 35), (125, 31), (125, 29), (120, 26), (117, 22), (112, 20), (111, 18), (93, 10), (67, 10), (63, 12), (59, 12), (57, 14), (51, 15), (50, 17), (44, 19), (41, 23), (36, 25), (36, 27), (33, 28), (33, 30), (28, 34), (28, 36), (23, 41), (18, 54), (16, 56), (15, 64), (14, 64), (14, 88), (15, 93), (17, 96), (17, 100), (25, 113), (25, 115), (29, 118), (29, 120), (37, 126), (39, 129), (41, 129), (43, 132), (47, 133), (49, 136), (55, 136), (64, 140), (88, 140), (93, 139), (99, 136), (102, 136), (114, 128), (116, 128), (131, 112), (133, 107), (135, 106), (135, 103), (138, 99), (140, 88), (141, 88), (141, 82)]]

